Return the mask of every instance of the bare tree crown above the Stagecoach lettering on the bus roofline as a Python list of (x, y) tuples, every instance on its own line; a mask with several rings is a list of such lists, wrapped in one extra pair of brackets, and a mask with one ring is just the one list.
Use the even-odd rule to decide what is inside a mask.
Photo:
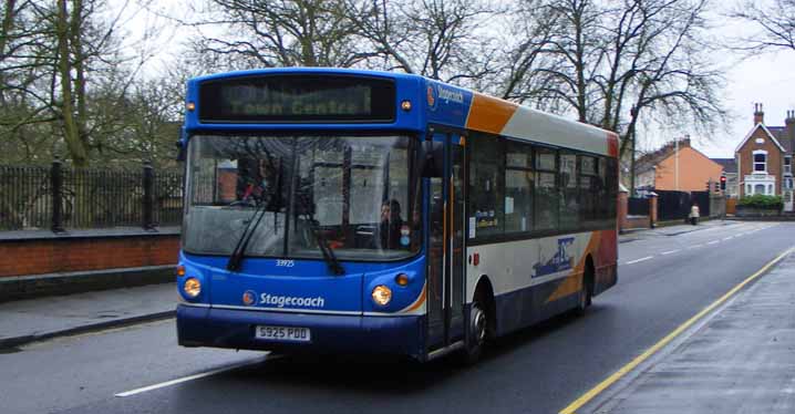
[(492, 65), (494, 28), (488, 28), (488, 19), (500, 10), (493, 4), (479, 0), (348, 0), (345, 10), (359, 37), (369, 44), (369, 66), (464, 85), (496, 73)]

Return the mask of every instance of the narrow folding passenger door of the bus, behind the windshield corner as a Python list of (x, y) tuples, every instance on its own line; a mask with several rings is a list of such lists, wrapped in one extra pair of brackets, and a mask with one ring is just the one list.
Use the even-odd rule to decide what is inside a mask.
[(431, 178), (427, 257), (427, 349), (464, 337), (465, 154), (460, 134), (435, 134), (445, 143), (445, 174)]

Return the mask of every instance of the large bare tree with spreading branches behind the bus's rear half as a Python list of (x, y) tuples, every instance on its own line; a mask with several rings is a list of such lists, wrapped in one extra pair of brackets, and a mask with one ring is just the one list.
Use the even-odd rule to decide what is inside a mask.
[(516, 52), (528, 61), (547, 59), (524, 72), (540, 85), (533, 99), (619, 133), (620, 154), (629, 163), (643, 117), (711, 131), (725, 116), (721, 71), (698, 52), (714, 48), (706, 0), (526, 3), (551, 22), (548, 31), (527, 32), (537, 40)]

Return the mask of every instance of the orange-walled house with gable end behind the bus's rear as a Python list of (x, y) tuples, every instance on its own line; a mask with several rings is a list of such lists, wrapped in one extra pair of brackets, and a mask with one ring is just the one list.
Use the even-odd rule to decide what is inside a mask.
[(723, 167), (690, 145), (674, 141), (636, 161), (636, 188), (704, 192), (719, 183)]

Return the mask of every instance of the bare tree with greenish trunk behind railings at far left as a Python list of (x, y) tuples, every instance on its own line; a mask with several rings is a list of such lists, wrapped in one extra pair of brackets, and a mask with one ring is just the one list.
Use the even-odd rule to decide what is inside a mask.
[(99, 0), (2, 4), (0, 141), (22, 148), (3, 158), (48, 162), (65, 152), (86, 166), (113, 141), (102, 135), (112, 130), (101, 116), (109, 105), (92, 104), (92, 96), (122, 100), (135, 74), (116, 34), (121, 12), (111, 15)]

